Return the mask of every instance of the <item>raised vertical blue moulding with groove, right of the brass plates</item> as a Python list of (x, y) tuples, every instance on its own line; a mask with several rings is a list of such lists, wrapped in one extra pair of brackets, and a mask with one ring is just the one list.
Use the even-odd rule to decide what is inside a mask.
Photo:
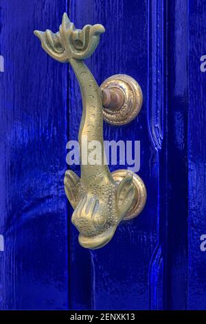
[(148, 1), (148, 130), (157, 159), (157, 246), (152, 254), (149, 268), (149, 309), (162, 310), (165, 295), (165, 97), (166, 84), (166, 17), (165, 1)]

